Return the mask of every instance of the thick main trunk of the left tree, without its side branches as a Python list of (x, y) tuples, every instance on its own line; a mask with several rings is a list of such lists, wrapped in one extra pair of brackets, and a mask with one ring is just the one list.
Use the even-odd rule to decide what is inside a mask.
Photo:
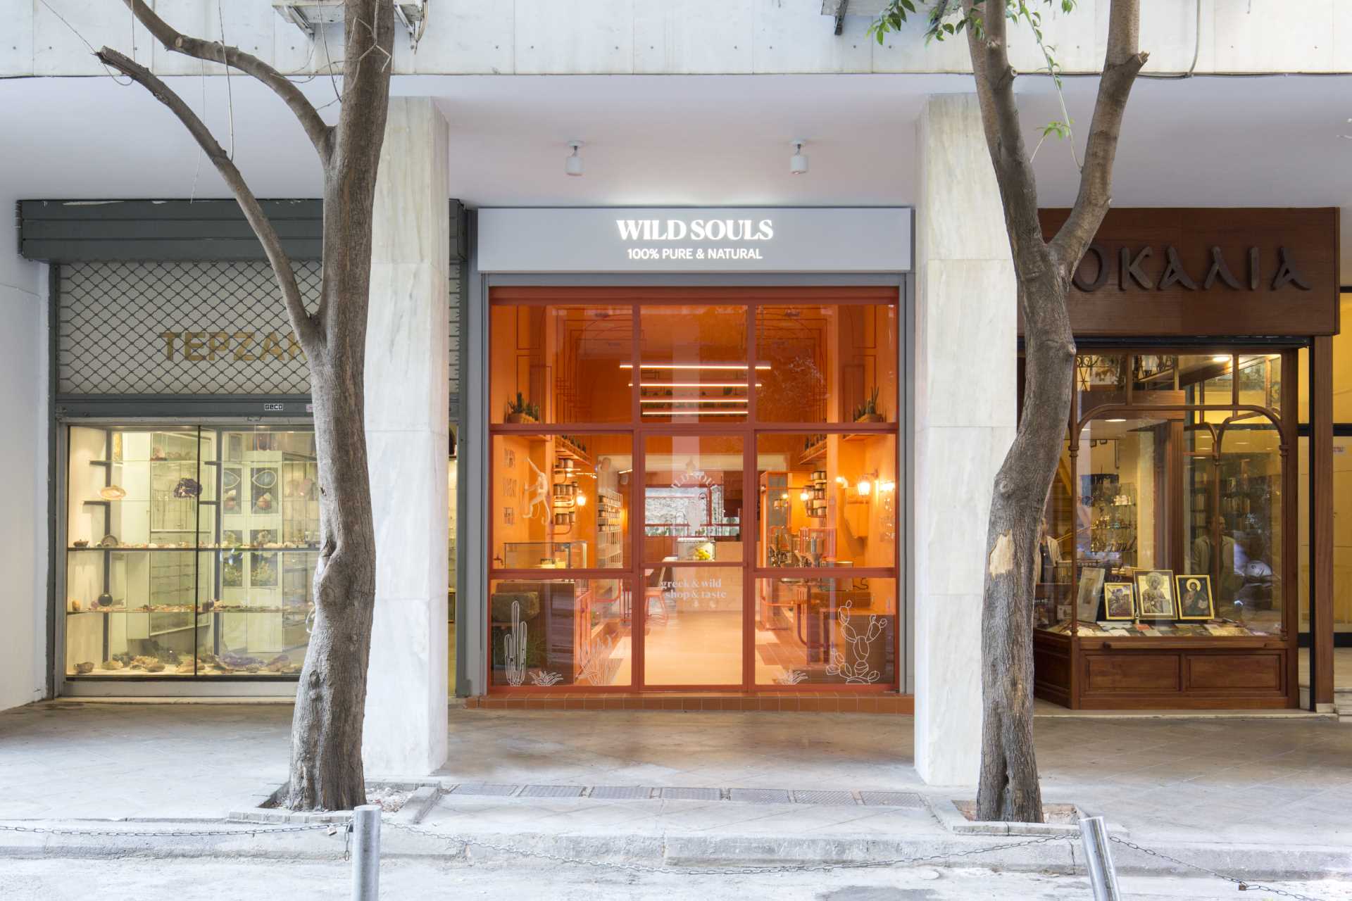
[[(347, 0), (342, 113), (324, 163), (323, 288), (310, 389), (319, 461), (315, 624), (291, 721), (291, 809), (366, 802), (361, 762), (376, 605), (376, 530), (366, 469), (366, 313), (376, 174), (389, 111), (393, 9)], [(356, 63), (350, 62), (356, 61)]]

